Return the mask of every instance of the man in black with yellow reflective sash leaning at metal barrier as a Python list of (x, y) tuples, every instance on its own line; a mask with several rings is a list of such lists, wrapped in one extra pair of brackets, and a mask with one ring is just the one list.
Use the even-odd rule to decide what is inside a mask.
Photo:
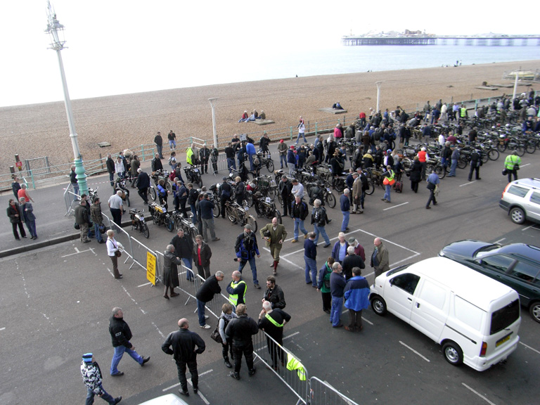
[(270, 302), (262, 303), (262, 311), (259, 314), (259, 329), (264, 330), (269, 338), (266, 338), (266, 345), (272, 361), (271, 367), (278, 370), (278, 359), (281, 366), (285, 366), (285, 353), (283, 353), (283, 326), (290, 321), (290, 315), (283, 309), (272, 308)]

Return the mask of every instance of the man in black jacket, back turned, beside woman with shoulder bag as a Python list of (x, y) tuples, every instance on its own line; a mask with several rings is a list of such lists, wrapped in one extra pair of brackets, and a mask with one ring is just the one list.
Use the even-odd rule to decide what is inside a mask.
[(246, 314), (245, 304), (239, 304), (236, 307), (236, 315), (238, 318), (231, 319), (229, 325), (225, 328), (225, 335), (233, 342), (234, 371), (230, 375), (235, 380), (240, 380), (242, 355), (245, 356), (245, 362), (248, 364), (248, 375), (251, 377), (255, 374), (251, 336), (259, 332), (259, 326), (257, 326), (257, 322)]

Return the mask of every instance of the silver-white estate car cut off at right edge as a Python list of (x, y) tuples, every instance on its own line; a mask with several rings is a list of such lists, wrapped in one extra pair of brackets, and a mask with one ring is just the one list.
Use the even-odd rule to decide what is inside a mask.
[(540, 224), (540, 179), (514, 180), (504, 188), (499, 207), (515, 224), (525, 220)]

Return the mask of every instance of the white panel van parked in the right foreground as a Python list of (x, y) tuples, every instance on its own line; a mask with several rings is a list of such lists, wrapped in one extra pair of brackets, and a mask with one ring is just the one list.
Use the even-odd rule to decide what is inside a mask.
[(369, 300), (376, 314), (390, 311), (442, 345), (455, 366), (484, 371), (518, 347), (518, 293), (446, 257), (381, 274)]

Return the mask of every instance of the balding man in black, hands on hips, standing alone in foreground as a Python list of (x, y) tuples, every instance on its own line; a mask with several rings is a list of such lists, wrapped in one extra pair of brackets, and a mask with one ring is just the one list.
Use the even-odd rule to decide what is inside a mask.
[[(186, 397), (189, 397), (188, 380), (186, 378), (186, 366), (191, 374), (191, 383), (193, 384), (193, 392), (198, 393), (199, 390), (199, 373), (197, 371), (197, 354), (202, 354), (205, 349), (205, 341), (200, 336), (189, 330), (189, 322), (186, 318), (178, 321), (179, 330), (169, 333), (161, 349), (166, 354), (172, 354), (176, 362), (178, 371), (178, 380), (180, 382), (180, 390), (178, 392)], [(196, 348), (196, 349), (195, 349)]]

